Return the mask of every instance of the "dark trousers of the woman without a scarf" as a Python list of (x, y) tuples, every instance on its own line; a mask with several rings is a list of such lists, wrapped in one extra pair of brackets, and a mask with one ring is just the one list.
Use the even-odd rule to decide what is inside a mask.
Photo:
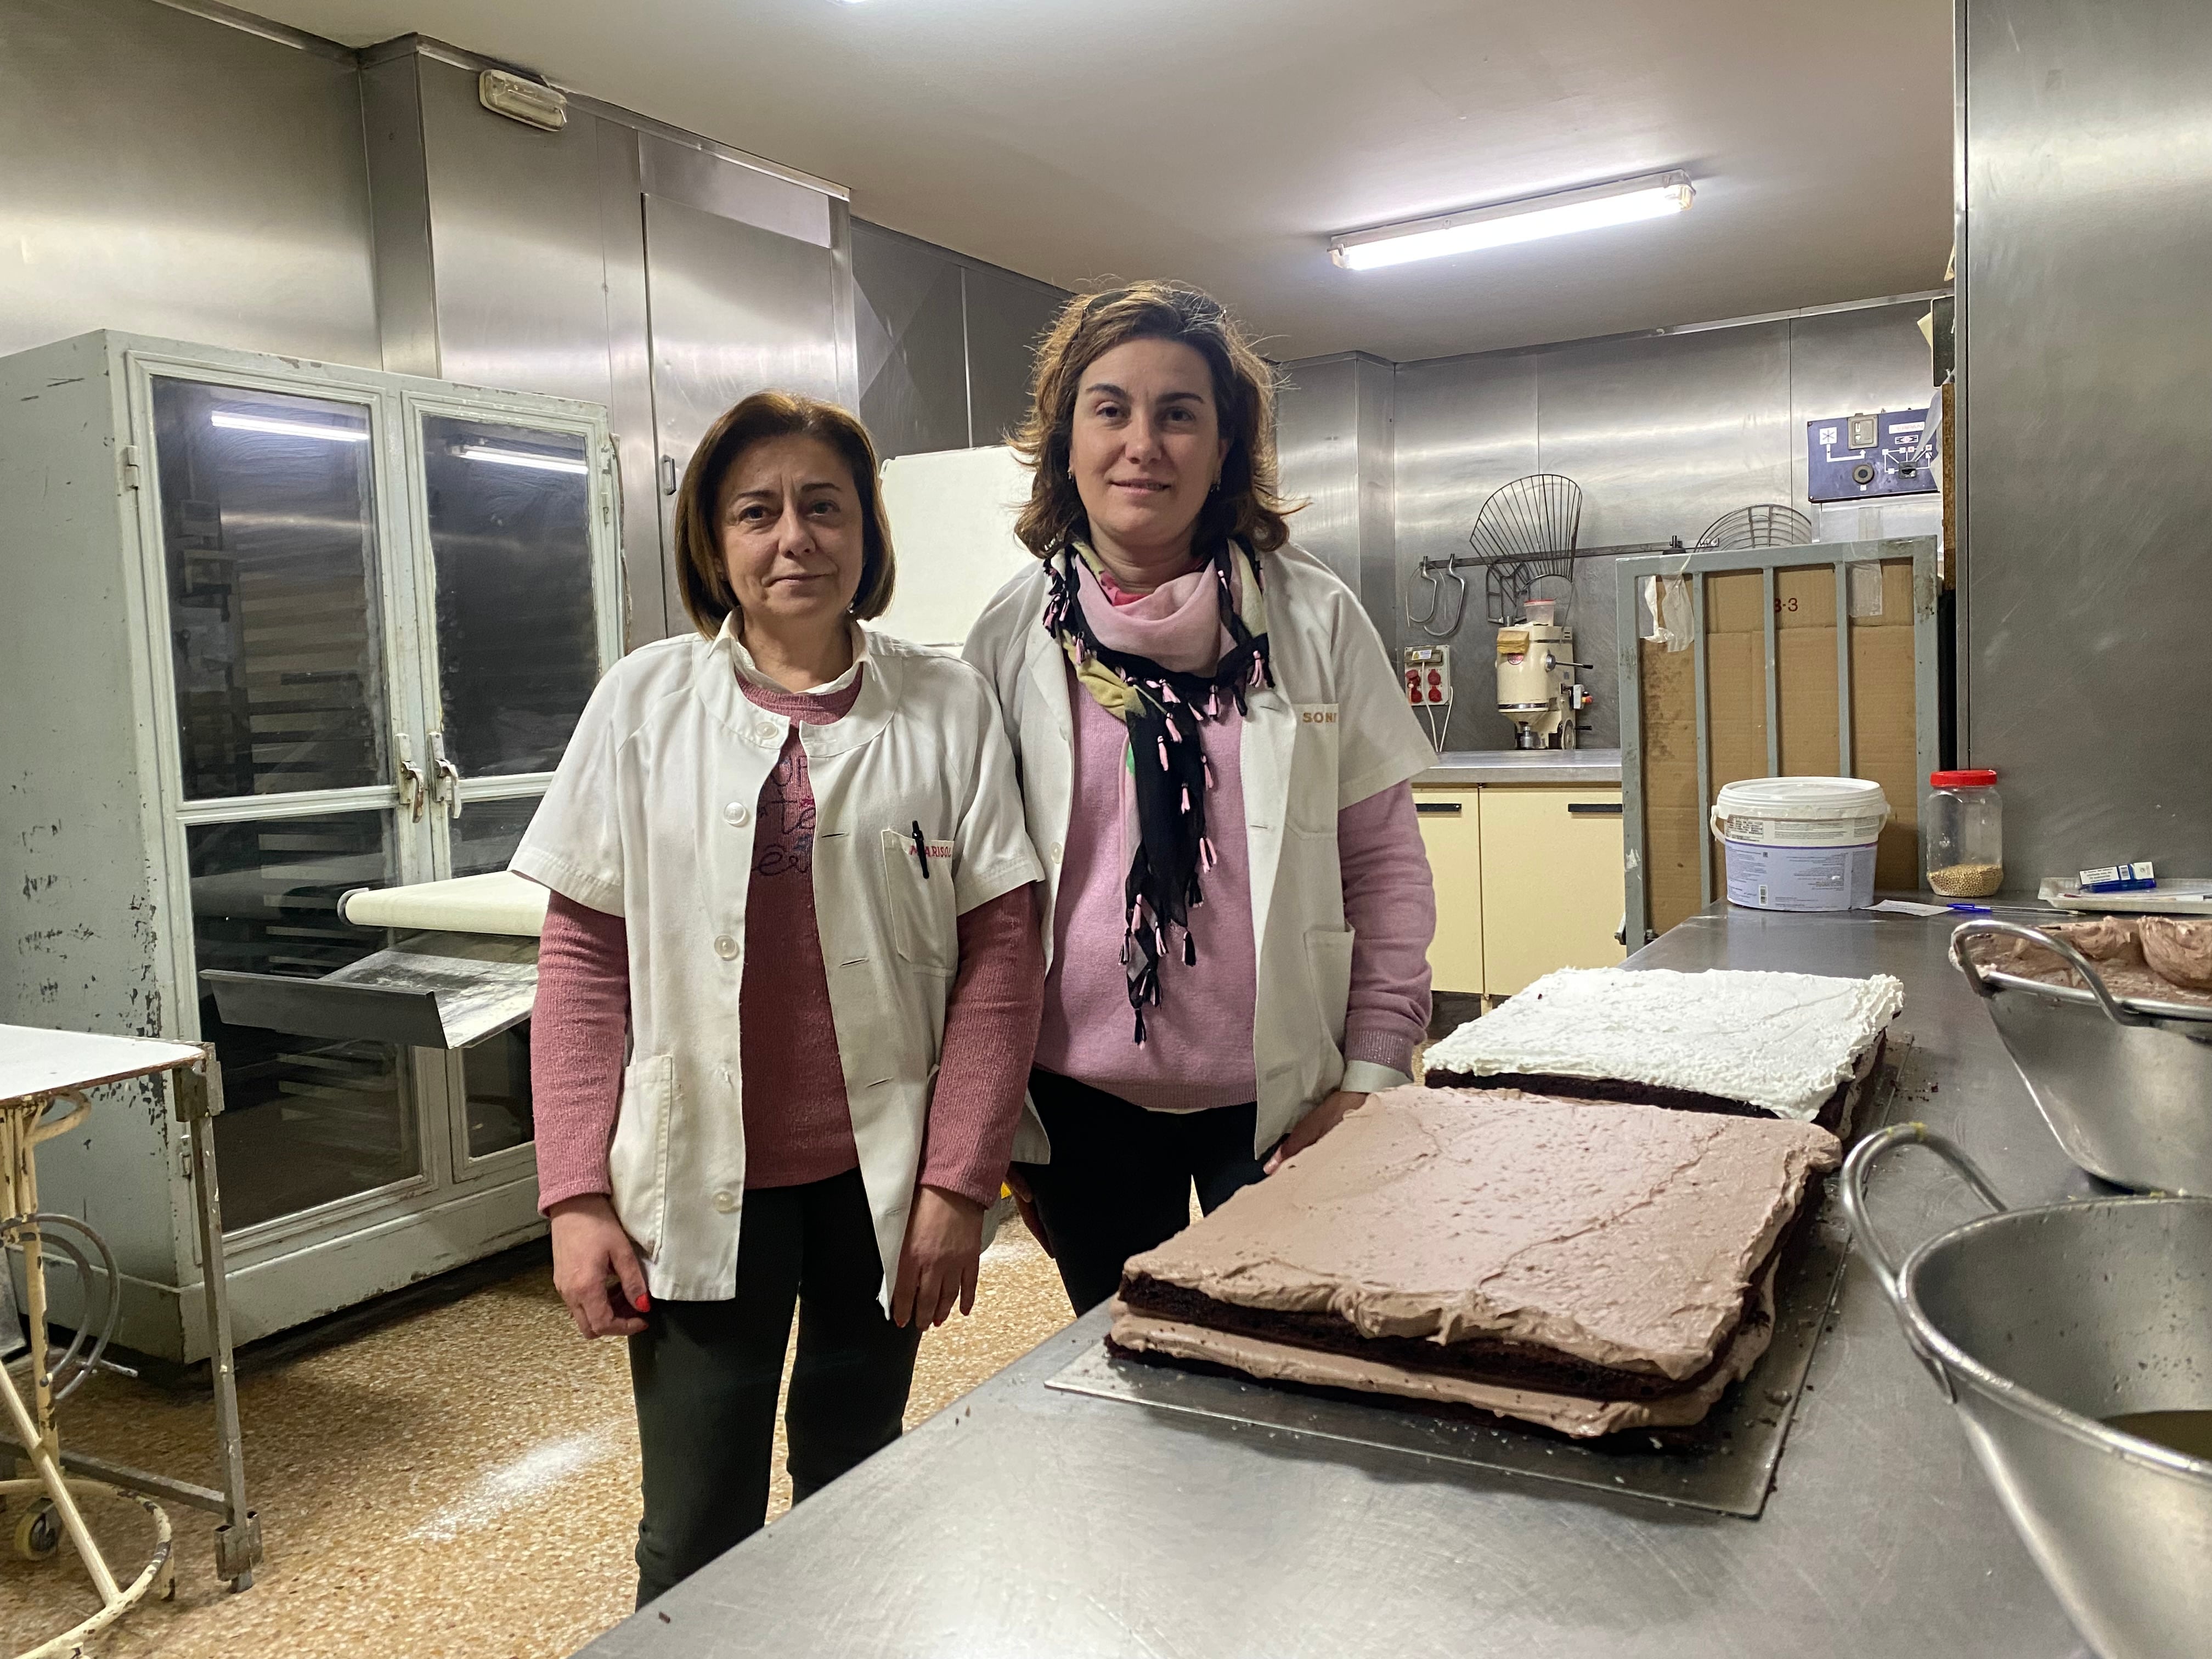
[(876, 1223), (849, 1170), (745, 1192), (737, 1296), (653, 1303), (630, 1338), (646, 1489), (637, 1606), (761, 1531), (794, 1301), (792, 1502), (898, 1440), (922, 1327), (885, 1318), (880, 1283)]

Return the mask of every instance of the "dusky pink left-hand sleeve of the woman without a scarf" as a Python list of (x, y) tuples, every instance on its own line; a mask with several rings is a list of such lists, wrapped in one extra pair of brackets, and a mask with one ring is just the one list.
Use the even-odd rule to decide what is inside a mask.
[(531, 1113), (538, 1208), (608, 1192), (606, 1148), (622, 1110), (630, 1026), (630, 936), (619, 916), (553, 894), (538, 936)]

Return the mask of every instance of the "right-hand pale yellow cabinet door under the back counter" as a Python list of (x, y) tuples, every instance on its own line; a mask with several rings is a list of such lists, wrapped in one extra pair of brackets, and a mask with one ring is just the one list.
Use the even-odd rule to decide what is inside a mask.
[[(1613, 967), (1621, 925), (1621, 792), (1484, 787), (1482, 989), (1509, 998), (1559, 967)], [(1433, 852), (1431, 852), (1433, 867)], [(1438, 876), (1438, 918), (1444, 883)], [(1436, 956), (1431, 953), (1431, 962)], [(1438, 980), (1442, 987), (1442, 980)]]

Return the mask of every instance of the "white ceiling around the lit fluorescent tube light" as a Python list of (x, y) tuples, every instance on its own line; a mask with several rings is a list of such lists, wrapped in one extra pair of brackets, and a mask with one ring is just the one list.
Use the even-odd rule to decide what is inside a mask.
[[(1066, 288), (1181, 276), (1279, 358), (1933, 288), (1949, 0), (248, 0), (418, 31)], [(1688, 168), (1679, 217), (1378, 272), (1336, 230)]]

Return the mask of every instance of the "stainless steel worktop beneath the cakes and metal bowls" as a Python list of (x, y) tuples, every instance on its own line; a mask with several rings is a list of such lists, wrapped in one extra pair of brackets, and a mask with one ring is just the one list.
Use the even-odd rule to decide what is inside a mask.
[[(1947, 938), (1947, 918), (1714, 907), (1632, 960), (1896, 973), (1891, 1115), (1958, 1137), (2008, 1201), (2088, 1192)], [(1874, 1212), (1902, 1248), (1971, 1208), (1907, 1155)], [(1048, 1389), (1104, 1327), (1099, 1310), (1042, 1343), (588, 1652), (2084, 1652), (1858, 1263), (1759, 1520)]]

